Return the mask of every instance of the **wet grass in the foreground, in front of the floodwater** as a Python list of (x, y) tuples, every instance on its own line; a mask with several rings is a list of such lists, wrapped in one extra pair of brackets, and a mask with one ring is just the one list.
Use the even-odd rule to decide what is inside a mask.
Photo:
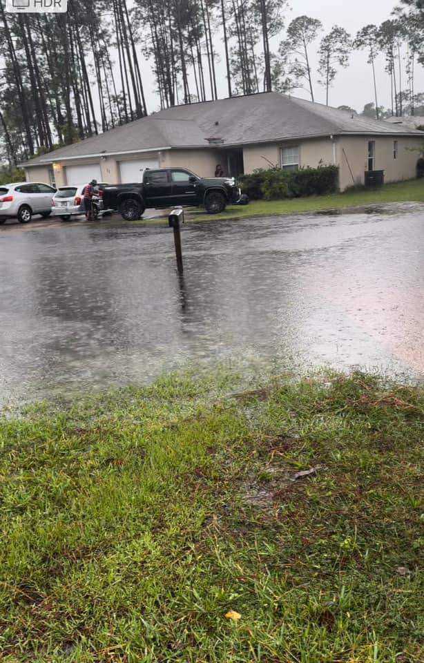
[(423, 390), (236, 388), (0, 420), (0, 660), (422, 660)]

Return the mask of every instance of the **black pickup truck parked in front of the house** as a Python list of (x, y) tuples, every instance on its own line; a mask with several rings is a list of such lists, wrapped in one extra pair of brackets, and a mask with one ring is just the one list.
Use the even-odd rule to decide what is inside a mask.
[(148, 207), (204, 206), (211, 214), (238, 202), (240, 189), (232, 177), (204, 179), (184, 168), (146, 169), (138, 184), (102, 184), (103, 209), (114, 209), (126, 221), (141, 218)]

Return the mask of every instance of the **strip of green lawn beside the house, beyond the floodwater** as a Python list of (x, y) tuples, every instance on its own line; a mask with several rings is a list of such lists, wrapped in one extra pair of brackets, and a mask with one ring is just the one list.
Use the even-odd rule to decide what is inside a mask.
[(407, 180), (396, 184), (385, 184), (382, 189), (347, 191), (332, 195), (314, 195), (310, 198), (290, 200), (253, 200), (247, 206), (233, 205), (224, 213), (210, 215), (204, 210), (191, 211), (190, 220), (206, 221), (218, 219), (241, 219), (249, 216), (272, 216), (297, 212), (314, 212), (322, 209), (343, 209), (358, 205), (387, 202), (424, 202), (424, 180)]

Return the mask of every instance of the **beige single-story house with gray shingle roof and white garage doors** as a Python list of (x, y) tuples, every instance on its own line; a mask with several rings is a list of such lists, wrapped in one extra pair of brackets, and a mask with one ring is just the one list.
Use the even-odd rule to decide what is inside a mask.
[(385, 171), (385, 182), (415, 177), (424, 135), (278, 93), (166, 108), (24, 164), (27, 180), (56, 186), (95, 177), (110, 184), (140, 182), (144, 169), (184, 166), (213, 176), (281, 166), (339, 166), (340, 189)]

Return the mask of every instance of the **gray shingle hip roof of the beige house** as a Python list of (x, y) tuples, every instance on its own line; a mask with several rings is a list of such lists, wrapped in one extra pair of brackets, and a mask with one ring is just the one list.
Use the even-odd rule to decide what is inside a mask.
[(166, 108), (99, 136), (59, 148), (28, 165), (87, 155), (119, 154), (160, 148), (225, 146), (327, 135), (417, 135), (409, 126), (354, 115), (298, 97), (260, 93), (247, 97)]

